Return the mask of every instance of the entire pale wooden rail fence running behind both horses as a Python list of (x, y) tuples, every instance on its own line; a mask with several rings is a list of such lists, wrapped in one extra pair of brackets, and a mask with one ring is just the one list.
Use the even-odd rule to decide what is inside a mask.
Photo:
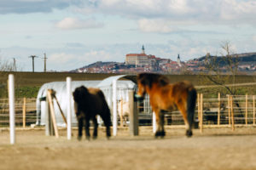
[[(195, 119), (199, 121), (199, 127), (201, 132), (203, 132), (203, 127), (229, 126), (231, 129), (235, 130), (235, 127), (241, 125), (255, 126), (255, 102), (255, 95), (248, 94), (243, 96), (223, 96), (218, 94), (218, 97), (215, 99), (206, 99), (203, 98), (203, 94), (198, 94), (195, 109)], [(144, 114), (145, 111), (150, 111), (149, 105), (146, 106), (148, 108), (145, 108), (145, 104), (144, 108), (142, 108), (142, 105), (139, 105), (138, 107), (138, 111), (140, 111), (140, 119), (152, 116), (152, 113)], [(171, 125), (183, 125), (183, 118), (179, 111), (172, 111), (172, 113), (166, 113), (166, 117), (172, 120), (170, 122)], [(27, 127), (31, 124), (34, 124), (36, 120), (36, 99), (15, 99), (16, 126)], [(9, 101), (8, 99), (0, 99), (0, 127), (6, 127), (8, 125)]]

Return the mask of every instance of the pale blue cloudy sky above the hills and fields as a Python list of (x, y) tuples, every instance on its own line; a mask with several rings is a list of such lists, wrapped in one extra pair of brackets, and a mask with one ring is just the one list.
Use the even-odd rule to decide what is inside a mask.
[(256, 52), (255, 0), (0, 0), (0, 57), (22, 71), (69, 71), (140, 53), (176, 60)]

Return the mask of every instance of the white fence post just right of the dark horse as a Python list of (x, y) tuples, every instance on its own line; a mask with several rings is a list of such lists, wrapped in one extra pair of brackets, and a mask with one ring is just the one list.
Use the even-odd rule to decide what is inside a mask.
[(113, 80), (113, 136), (116, 136), (117, 134), (117, 126), (118, 126), (118, 120), (117, 120), (117, 101), (116, 101), (116, 95), (117, 95), (117, 80)]

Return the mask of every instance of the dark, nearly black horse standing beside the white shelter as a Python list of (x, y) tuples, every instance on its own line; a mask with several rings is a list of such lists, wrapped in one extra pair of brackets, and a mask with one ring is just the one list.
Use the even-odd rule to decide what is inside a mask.
[(108, 104), (99, 88), (85, 88), (81, 86), (76, 88), (73, 92), (75, 113), (79, 122), (79, 136), (82, 138), (83, 125), (85, 125), (86, 139), (90, 139), (90, 119), (94, 124), (93, 139), (97, 137), (98, 123), (96, 121), (96, 115), (100, 115), (106, 126), (107, 138), (110, 137), (110, 111)]

